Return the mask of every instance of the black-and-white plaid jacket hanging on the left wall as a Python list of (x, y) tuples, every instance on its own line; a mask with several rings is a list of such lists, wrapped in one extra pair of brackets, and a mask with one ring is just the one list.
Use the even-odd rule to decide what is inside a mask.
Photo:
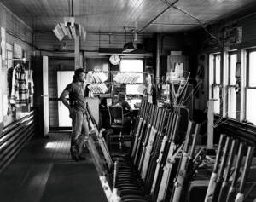
[(23, 66), (15, 66), (12, 78), (10, 104), (15, 107), (27, 106), (29, 101), (26, 73)]

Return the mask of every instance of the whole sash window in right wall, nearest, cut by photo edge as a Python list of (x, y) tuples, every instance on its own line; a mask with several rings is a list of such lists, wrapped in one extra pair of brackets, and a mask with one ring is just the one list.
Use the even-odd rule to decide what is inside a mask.
[(246, 119), (256, 124), (256, 49), (247, 52)]

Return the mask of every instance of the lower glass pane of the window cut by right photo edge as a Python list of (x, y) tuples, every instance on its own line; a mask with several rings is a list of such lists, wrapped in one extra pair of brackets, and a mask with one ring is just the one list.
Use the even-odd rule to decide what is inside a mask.
[(256, 113), (255, 113), (255, 103), (256, 103), (256, 89), (247, 89), (247, 115), (246, 119), (253, 124), (256, 124)]

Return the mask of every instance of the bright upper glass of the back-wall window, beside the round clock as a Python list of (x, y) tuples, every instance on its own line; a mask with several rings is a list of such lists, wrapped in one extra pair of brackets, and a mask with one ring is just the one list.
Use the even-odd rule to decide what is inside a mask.
[[(143, 60), (121, 60), (120, 72), (143, 72)], [(138, 75), (137, 83), (143, 83), (143, 73), (138, 73)]]

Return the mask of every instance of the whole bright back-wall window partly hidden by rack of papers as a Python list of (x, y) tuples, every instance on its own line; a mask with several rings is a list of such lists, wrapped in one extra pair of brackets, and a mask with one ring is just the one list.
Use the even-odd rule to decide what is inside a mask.
[[(142, 59), (122, 59), (120, 61), (120, 72), (134, 72), (139, 75), (137, 83), (143, 83), (143, 60)], [(140, 73), (141, 72), (141, 73)], [(139, 84), (126, 84), (127, 95), (140, 94), (137, 91)]]

